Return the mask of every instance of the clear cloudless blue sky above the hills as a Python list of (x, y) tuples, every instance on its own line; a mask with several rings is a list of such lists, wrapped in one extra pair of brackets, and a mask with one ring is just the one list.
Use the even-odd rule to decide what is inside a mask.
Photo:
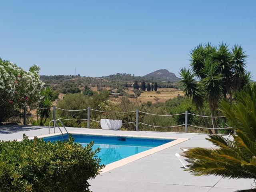
[(178, 74), (199, 43), (242, 44), (256, 80), (256, 1), (2, 1), (0, 57), (40, 74)]

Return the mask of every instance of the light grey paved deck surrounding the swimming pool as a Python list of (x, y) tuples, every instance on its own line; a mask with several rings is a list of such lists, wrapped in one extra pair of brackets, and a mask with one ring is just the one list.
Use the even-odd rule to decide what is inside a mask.
[[(90, 190), (93, 192), (235, 192), (251, 188), (251, 179), (198, 177), (184, 171), (182, 164), (174, 154), (181, 152), (179, 149), (181, 146), (212, 147), (213, 145), (205, 140), (206, 134), (111, 131), (87, 128), (67, 128), (67, 130), (68, 132), (88, 134), (189, 138), (185, 142), (100, 174), (90, 181)], [(58, 132), (57, 129), (56, 132)], [(0, 140), (21, 139), (23, 133), (29, 137), (41, 136), (48, 134), (48, 128), (0, 126)]]

